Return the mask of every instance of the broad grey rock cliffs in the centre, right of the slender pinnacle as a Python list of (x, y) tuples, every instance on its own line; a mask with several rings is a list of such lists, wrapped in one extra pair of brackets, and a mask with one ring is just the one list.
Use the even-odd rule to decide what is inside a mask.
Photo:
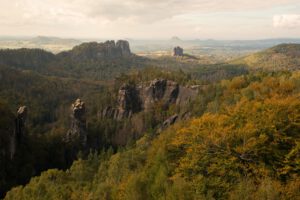
[(106, 107), (101, 117), (122, 120), (140, 111), (149, 111), (161, 103), (164, 109), (171, 104), (183, 107), (197, 95), (197, 90), (180, 86), (166, 79), (155, 79), (149, 85), (123, 85), (118, 92), (118, 105)]

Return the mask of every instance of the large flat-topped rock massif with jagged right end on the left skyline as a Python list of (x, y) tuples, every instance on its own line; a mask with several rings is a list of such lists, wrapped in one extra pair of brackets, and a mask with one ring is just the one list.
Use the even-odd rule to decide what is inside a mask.
[[(125, 40), (119, 40), (117, 43), (113, 40), (104, 43), (89, 42), (74, 47), (70, 52), (71, 58), (76, 61), (97, 60), (97, 59), (113, 59), (128, 57), (131, 54), (129, 43)], [(61, 54), (61, 55), (65, 55)]]

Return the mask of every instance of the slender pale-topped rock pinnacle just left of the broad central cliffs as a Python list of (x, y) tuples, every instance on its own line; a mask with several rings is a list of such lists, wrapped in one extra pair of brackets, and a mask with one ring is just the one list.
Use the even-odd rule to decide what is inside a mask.
[(77, 99), (71, 106), (71, 126), (64, 140), (66, 143), (87, 145), (85, 103)]

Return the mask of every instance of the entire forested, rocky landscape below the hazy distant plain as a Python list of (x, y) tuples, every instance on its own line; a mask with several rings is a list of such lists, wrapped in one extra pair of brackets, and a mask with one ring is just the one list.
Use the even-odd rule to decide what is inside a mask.
[(126, 41), (1, 50), (1, 196), (297, 199), (298, 55), (279, 45), (203, 64), (139, 57)]

